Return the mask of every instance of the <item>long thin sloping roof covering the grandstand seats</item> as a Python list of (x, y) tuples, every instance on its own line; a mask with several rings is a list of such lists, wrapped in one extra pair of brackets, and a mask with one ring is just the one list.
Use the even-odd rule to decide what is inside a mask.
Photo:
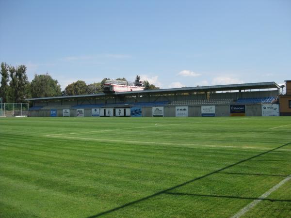
[(275, 82), (256, 82), (256, 83), (242, 83), (230, 85), (216, 85), (216, 86), (197, 86), (197, 87), (184, 87), (173, 89), (158, 89), (158, 90), (143, 90), (131, 91), (120, 93), (97, 93), (97, 94), (84, 94), (84, 95), (65, 95), (57, 97), (41, 97), (41, 98), (28, 98), (27, 101), (35, 100), (52, 100), (52, 99), (68, 99), (68, 98), (84, 98), (84, 97), (97, 97), (104, 95), (131, 95), (131, 94), (167, 94), (167, 93), (185, 93), (185, 92), (213, 92), (213, 91), (231, 91), (231, 90), (256, 90), (256, 89), (279, 89), (280, 86)]

